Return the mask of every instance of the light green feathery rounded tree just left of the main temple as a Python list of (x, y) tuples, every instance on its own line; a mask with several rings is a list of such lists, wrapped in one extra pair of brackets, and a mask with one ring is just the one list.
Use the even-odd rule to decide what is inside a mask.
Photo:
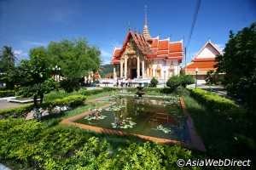
[(101, 64), (100, 50), (84, 39), (50, 42), (48, 53), (51, 66), (61, 67), (61, 86), (68, 92), (78, 89), (79, 80), (89, 71), (97, 71)]

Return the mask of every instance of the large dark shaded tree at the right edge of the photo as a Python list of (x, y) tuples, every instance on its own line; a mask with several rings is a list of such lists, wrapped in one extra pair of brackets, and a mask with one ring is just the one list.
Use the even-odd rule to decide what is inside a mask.
[(234, 34), (226, 43), (224, 54), (218, 56), (218, 72), (224, 72), (228, 94), (240, 99), (251, 112), (256, 97), (256, 23)]

